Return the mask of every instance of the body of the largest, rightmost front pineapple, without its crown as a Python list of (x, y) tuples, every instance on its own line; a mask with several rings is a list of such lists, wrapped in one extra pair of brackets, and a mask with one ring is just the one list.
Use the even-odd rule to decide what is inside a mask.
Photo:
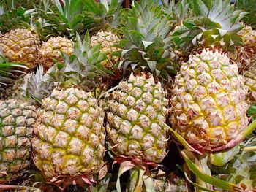
[(171, 96), (170, 123), (193, 147), (221, 147), (247, 126), (247, 88), (236, 64), (203, 50), (181, 64)]

